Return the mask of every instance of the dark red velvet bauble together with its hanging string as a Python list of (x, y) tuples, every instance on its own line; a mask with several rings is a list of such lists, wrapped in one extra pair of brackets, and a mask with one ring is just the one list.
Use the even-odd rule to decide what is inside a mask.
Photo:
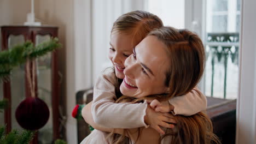
[[(30, 69), (32, 65), (32, 70)], [(36, 93), (36, 61), (26, 62), (26, 78), (31, 97), (27, 97), (17, 107), (15, 116), (20, 126), (27, 130), (38, 130), (42, 128), (49, 119), (50, 111), (42, 99), (37, 98)], [(32, 71), (32, 74), (31, 74)]]

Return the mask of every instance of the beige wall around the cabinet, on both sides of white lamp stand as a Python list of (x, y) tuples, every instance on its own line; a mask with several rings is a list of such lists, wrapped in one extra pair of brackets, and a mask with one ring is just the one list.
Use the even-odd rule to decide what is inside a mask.
[[(30, 0), (1, 0), (0, 26), (23, 25), (26, 21), (26, 14), (30, 13), (30, 3)], [(77, 142), (76, 121), (71, 117), (71, 111), (75, 105), (73, 3), (73, 1), (69, 0), (36, 0), (34, 2), (36, 21), (42, 22), (43, 25), (59, 27), (59, 39), (63, 45), (62, 49), (58, 51), (59, 69), (63, 75), (61, 103), (67, 107), (64, 112), (67, 116), (66, 137), (68, 143)]]

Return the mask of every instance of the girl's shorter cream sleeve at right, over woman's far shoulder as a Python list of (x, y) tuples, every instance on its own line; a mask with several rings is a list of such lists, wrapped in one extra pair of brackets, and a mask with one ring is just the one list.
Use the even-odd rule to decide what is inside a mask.
[(193, 88), (188, 94), (174, 97), (168, 101), (174, 106), (174, 115), (191, 116), (206, 110), (207, 107), (206, 97), (197, 87)]

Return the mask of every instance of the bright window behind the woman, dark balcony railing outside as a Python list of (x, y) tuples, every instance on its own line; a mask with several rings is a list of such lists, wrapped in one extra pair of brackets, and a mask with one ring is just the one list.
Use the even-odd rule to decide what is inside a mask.
[[(187, 10), (185, 2), (190, 3), (184, 0), (146, 0), (145, 9), (158, 15), (164, 25), (185, 28), (185, 10)], [(206, 48), (207, 62), (202, 90), (209, 97), (236, 99), (240, 0), (208, 0), (205, 2), (205, 33), (201, 35)], [(192, 11), (196, 11), (197, 8), (200, 7), (195, 8), (194, 5)], [(195, 15), (204, 13), (204, 11), (201, 13), (199, 11), (191, 14), (193, 21), (197, 21)], [(200, 32), (197, 33), (200, 34)]]

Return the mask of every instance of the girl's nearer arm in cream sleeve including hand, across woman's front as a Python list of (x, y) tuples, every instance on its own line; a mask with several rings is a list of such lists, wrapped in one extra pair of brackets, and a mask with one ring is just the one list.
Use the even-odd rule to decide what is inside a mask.
[[(154, 112), (148, 109), (148, 104), (144, 103), (114, 103), (115, 96), (115, 74), (104, 73), (99, 77), (94, 87), (94, 100), (92, 102), (91, 113), (96, 124), (107, 128), (139, 128), (150, 127), (164, 134), (160, 128), (173, 128), (175, 123), (169, 113)], [(147, 123), (147, 124), (146, 124)]]

